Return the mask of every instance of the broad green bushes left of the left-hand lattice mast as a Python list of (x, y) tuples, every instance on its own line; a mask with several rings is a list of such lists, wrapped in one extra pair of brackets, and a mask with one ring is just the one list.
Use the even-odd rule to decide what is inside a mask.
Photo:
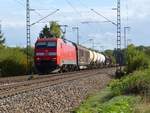
[(26, 74), (27, 60), (18, 48), (3, 48), (0, 50), (1, 76), (17, 76)]

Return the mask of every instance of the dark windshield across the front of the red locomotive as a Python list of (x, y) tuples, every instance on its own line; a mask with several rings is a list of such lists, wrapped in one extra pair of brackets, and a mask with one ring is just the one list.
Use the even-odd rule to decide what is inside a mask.
[(37, 42), (36, 48), (56, 48), (56, 42)]

